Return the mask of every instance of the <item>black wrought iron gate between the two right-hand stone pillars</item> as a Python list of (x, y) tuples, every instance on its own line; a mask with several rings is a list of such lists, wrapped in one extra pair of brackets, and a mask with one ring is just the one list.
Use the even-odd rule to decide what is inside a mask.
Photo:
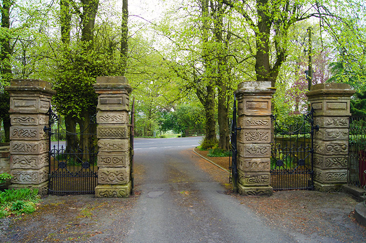
[(291, 125), (280, 124), (276, 117), (271, 151), (271, 186), (274, 190), (314, 188), (313, 135), (319, 130), (314, 126), (312, 109), (302, 121)]

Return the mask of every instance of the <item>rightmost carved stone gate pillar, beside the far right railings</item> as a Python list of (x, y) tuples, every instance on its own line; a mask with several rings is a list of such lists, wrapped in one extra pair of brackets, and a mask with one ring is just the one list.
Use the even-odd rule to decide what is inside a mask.
[(314, 187), (322, 192), (340, 191), (347, 182), (348, 117), (350, 97), (346, 83), (319, 83), (306, 93), (314, 109)]

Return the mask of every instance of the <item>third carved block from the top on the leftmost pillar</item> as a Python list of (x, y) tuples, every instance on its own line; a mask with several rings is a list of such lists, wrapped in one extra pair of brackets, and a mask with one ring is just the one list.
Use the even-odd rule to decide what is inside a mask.
[(10, 153), (13, 154), (42, 154), (48, 152), (48, 142), (41, 140), (38, 142), (11, 141)]

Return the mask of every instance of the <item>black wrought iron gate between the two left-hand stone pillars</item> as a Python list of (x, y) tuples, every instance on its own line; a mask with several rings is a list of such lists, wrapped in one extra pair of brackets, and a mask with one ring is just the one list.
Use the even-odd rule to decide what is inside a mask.
[(67, 128), (64, 119), (48, 111), (49, 185), (48, 193), (94, 194), (98, 183), (96, 117), (84, 127)]

